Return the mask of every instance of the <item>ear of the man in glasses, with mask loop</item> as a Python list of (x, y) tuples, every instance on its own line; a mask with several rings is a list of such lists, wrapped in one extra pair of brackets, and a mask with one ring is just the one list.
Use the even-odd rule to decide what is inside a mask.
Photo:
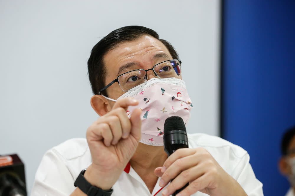
[(100, 116), (103, 116), (112, 110), (108, 100), (101, 95), (92, 96), (90, 103), (94, 111)]

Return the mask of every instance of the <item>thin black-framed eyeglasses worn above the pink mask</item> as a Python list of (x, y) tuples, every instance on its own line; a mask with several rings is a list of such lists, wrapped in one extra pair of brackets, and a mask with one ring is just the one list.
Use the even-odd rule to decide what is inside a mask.
[(155, 76), (160, 79), (176, 78), (181, 74), (181, 61), (173, 59), (158, 63), (151, 69), (136, 69), (133, 71), (128, 71), (121, 74), (117, 77), (117, 79), (114, 79), (111, 83), (102, 88), (98, 94), (100, 95), (102, 91), (109, 88), (115, 82), (119, 83), (119, 86), (123, 91), (134, 90), (133, 88), (142, 83), (145, 83), (148, 80), (147, 72), (150, 70), (153, 70)]

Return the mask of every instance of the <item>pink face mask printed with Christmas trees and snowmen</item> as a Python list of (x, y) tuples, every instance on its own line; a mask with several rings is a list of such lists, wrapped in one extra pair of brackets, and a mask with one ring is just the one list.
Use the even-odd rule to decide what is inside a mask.
[[(130, 118), (135, 108), (142, 110), (141, 143), (163, 145), (164, 123), (170, 116), (179, 116), (187, 123), (193, 107), (186, 91), (185, 83), (178, 78), (151, 78), (118, 99), (133, 97), (139, 101), (137, 106), (130, 106), (127, 115)], [(107, 97), (106, 97), (107, 98)], [(107, 98), (112, 101), (117, 101)]]

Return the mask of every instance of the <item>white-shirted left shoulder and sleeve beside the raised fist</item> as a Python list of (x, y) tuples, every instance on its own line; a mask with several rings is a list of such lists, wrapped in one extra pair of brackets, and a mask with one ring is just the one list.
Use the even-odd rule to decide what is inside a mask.
[(51, 148), (37, 169), (32, 195), (70, 195), (75, 179), (90, 163), (86, 139), (70, 139)]

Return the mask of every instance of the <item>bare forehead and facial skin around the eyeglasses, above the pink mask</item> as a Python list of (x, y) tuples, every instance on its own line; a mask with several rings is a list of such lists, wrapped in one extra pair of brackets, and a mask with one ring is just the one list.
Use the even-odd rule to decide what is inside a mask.
[[(157, 63), (171, 59), (172, 56), (164, 44), (151, 36), (142, 36), (135, 41), (121, 43), (104, 56), (105, 84), (112, 82), (122, 73), (135, 69), (147, 70)], [(148, 79), (156, 77), (152, 70), (148, 71), (147, 75)], [(118, 83), (114, 83), (106, 91), (112, 99), (117, 99), (125, 93)], [(114, 104), (109, 103), (111, 106)]]

